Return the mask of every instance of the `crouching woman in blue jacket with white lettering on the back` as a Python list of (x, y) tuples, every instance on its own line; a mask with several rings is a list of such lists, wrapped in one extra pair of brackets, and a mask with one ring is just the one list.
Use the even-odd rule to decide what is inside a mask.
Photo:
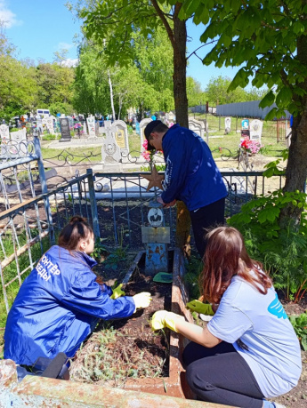
[(109, 286), (96, 282), (93, 247), (93, 229), (74, 216), (20, 286), (6, 322), (5, 359), (32, 365), (59, 352), (72, 357), (99, 318), (128, 317), (149, 306), (148, 292), (114, 299)]

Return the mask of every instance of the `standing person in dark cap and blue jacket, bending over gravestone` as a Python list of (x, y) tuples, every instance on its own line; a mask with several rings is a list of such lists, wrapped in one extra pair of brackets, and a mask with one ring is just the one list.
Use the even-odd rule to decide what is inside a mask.
[(227, 189), (205, 140), (174, 124), (168, 128), (160, 120), (147, 124), (148, 150), (162, 150), (166, 161), (164, 191), (158, 202), (172, 206), (183, 201), (190, 212), (194, 240), (203, 257), (208, 228), (224, 223)]

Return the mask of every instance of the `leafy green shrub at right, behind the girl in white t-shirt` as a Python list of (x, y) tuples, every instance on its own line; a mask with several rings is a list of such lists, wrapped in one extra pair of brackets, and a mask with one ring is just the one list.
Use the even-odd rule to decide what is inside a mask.
[(250, 256), (263, 262), (277, 289), (288, 300), (302, 300), (307, 289), (307, 219), (302, 213), (299, 225), (291, 220), (279, 226), (279, 213), (289, 203), (306, 210), (306, 194), (274, 191), (242, 206), (228, 223), (238, 228), (246, 240)]

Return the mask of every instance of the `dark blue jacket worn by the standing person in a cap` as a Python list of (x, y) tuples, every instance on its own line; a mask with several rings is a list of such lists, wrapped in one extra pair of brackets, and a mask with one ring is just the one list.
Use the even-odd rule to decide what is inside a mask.
[(214, 158), (198, 134), (174, 124), (163, 137), (166, 176), (161, 197), (165, 203), (183, 201), (189, 211), (227, 196)]

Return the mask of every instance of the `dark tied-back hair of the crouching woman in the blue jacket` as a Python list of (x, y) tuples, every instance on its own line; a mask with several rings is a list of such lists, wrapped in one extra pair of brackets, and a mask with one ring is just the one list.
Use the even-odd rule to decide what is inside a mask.
[(69, 223), (61, 230), (58, 244), (59, 246), (74, 251), (81, 239), (89, 241), (93, 236), (93, 229), (85, 218), (75, 215)]

